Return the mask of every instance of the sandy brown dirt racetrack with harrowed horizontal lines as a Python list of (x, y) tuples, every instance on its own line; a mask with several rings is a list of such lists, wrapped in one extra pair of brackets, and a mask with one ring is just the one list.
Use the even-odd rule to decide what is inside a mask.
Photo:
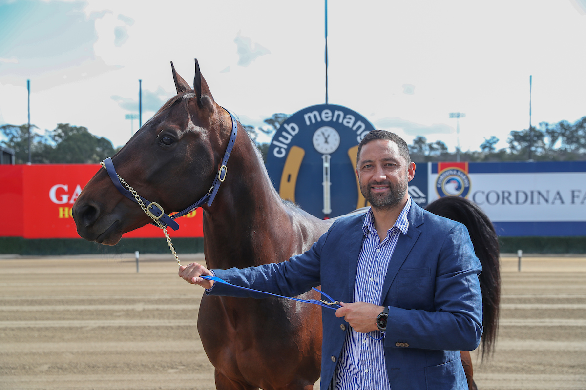
[[(170, 255), (139, 267), (130, 254), (0, 257), (0, 389), (214, 389), (196, 329), (203, 290)], [(518, 272), (503, 256), (502, 278), (478, 388), (586, 389), (586, 257), (524, 257)]]

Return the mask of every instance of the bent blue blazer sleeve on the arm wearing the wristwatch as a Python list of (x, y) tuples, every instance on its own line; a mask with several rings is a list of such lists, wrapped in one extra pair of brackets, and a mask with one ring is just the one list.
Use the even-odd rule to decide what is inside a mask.
[[(432, 259), (430, 259), (432, 261)], [(471, 351), (482, 336), (482, 296), (468, 230), (457, 224), (445, 235), (437, 258), (434, 311), (390, 307), (386, 347)]]

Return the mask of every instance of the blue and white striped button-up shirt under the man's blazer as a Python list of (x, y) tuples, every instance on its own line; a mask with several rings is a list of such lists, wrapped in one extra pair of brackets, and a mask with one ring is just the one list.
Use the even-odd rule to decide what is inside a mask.
[[(372, 209), (366, 213), (362, 226), (364, 239), (358, 258), (354, 302), (381, 305), (384, 277), (400, 233), (407, 233), (409, 227), (407, 213), (410, 207), (411, 198), (408, 198), (403, 211), (393, 227), (387, 230), (387, 237), (382, 242), (374, 229)], [(370, 336), (380, 339), (383, 334), (376, 330), (370, 332)], [(336, 390), (390, 390), (389, 377), (384, 364), (383, 342), (384, 339), (373, 340), (369, 334), (355, 332), (350, 327), (336, 366), (334, 388)]]

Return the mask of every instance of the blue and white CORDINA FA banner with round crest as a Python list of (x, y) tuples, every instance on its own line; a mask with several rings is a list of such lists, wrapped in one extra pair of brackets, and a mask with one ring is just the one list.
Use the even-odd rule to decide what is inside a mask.
[(425, 165), (421, 206), (462, 196), (484, 210), (499, 236), (586, 236), (586, 161), (427, 163), (415, 178)]

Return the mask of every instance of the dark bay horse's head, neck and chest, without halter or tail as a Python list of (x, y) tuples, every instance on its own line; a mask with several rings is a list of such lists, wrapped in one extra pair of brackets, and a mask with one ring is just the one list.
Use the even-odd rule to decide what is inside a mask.
[[(231, 116), (214, 102), (197, 60), (193, 89), (173, 65), (172, 71), (177, 95), (112, 158), (120, 177), (167, 213), (209, 191), (232, 130)], [(210, 268), (288, 260), (331, 224), (281, 200), (256, 147), (237, 126), (222, 187), (211, 206), (202, 206)], [(81, 192), (73, 218), (81, 237), (107, 245), (151, 222), (114, 188), (105, 169)], [(303, 298), (321, 299), (311, 292)], [(204, 295), (197, 319), (218, 389), (312, 389), (320, 375), (321, 328), (319, 306), (277, 298)]]

